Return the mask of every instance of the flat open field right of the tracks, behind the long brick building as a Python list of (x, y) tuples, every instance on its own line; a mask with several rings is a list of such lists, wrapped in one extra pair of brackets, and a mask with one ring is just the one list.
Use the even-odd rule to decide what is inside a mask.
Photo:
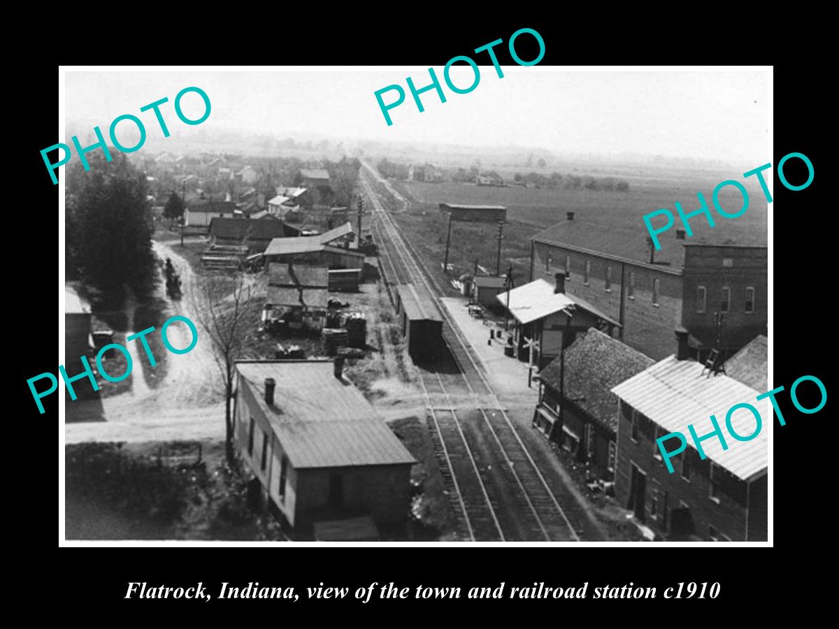
[[(623, 175), (626, 176), (626, 175)], [(597, 223), (603, 229), (622, 228), (629, 235), (637, 233), (646, 239), (647, 231), (642, 216), (659, 208), (669, 208), (675, 215), (675, 202), (680, 201), (685, 212), (699, 207), (696, 193), (702, 192), (711, 205), (711, 192), (723, 177), (743, 180), (740, 174), (709, 175), (707, 172), (690, 174), (688, 171), (652, 171), (646, 179), (635, 175), (626, 177), (630, 189), (626, 192), (605, 190), (537, 189), (520, 186), (493, 187), (444, 182), (439, 184), (416, 181), (392, 181), (391, 184), (409, 201), (409, 209), (394, 218), (412, 237), (415, 246), (429, 265), (440, 269), (446, 249), (446, 217), (440, 212), (440, 202), (504, 205), (508, 208), (508, 225), (504, 226), (501, 252), (502, 273), (513, 265), (515, 283), (527, 281), (529, 275), (530, 238), (545, 227), (565, 221), (565, 213), (575, 212), (576, 220)], [(711, 178), (712, 177), (712, 178)], [(726, 242), (734, 237), (737, 242), (766, 242), (767, 203), (757, 182), (744, 182), (749, 193), (748, 211), (735, 219), (722, 219), (711, 209), (717, 225), (711, 229), (704, 216), (691, 222), (695, 237), (706, 242)], [(722, 207), (736, 212), (742, 199), (733, 186), (720, 194)], [(769, 209), (771, 211), (771, 208)], [(663, 222), (663, 217), (654, 221)], [(671, 231), (680, 228), (676, 217)], [(495, 272), (498, 242), (496, 226), (479, 223), (456, 223), (452, 228), (449, 263), (455, 265), (454, 277), (472, 272), (475, 260), (491, 273)], [(690, 242), (690, 241), (688, 241)]]

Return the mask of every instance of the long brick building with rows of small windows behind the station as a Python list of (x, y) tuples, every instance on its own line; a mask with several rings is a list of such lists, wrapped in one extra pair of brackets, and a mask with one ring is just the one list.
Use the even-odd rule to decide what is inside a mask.
[[(712, 244), (712, 239), (725, 244)], [(685, 231), (659, 235), (655, 251), (641, 226), (629, 228), (575, 219), (531, 239), (530, 278), (566, 273), (566, 292), (601, 309), (621, 324), (620, 338), (654, 359), (675, 352), (673, 330), (690, 332), (693, 355), (714, 346), (717, 313), (720, 347), (731, 356), (768, 321), (765, 229), (717, 223), (700, 237)]]

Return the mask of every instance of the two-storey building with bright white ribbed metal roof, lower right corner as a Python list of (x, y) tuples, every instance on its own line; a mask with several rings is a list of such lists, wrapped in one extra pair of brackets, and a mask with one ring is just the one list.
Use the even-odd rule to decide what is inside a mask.
[[(765, 541), (771, 427), (764, 425), (750, 441), (736, 441), (727, 434), (725, 418), (739, 403), (753, 404), (763, 418), (771, 417), (771, 411), (755, 401), (762, 391), (722, 374), (709, 377), (701, 363), (685, 360), (684, 333), (679, 346), (676, 356), (612, 388), (620, 398), (615, 496), (639, 522), (664, 538)], [(716, 436), (705, 439), (702, 460), (687, 426), (692, 424), (700, 436), (708, 434), (713, 429), (711, 415), (729, 447), (723, 450)], [(755, 420), (740, 409), (732, 415), (732, 425), (738, 434), (748, 435)], [(670, 459), (670, 473), (655, 439), (673, 432), (685, 434), (687, 446)], [(677, 441), (664, 444), (673, 450)]]

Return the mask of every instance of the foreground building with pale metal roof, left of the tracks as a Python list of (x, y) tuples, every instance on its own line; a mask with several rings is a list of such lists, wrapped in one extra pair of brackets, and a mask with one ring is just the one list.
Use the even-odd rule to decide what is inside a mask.
[(239, 454), (294, 538), (328, 522), (331, 538), (350, 539), (359, 518), (398, 530), (409, 515), (416, 460), (342, 367), (340, 358), (236, 362)]

